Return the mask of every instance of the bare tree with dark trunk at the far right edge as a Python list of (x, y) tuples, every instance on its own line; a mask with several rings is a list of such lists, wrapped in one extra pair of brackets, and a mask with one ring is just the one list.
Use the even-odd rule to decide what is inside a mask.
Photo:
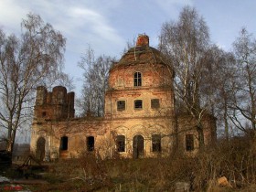
[[(236, 80), (234, 81), (232, 122), (241, 131), (247, 132), (246, 123), (256, 132), (256, 39), (242, 28), (240, 37), (233, 44), (237, 59)], [(256, 134), (255, 134), (256, 135)]]

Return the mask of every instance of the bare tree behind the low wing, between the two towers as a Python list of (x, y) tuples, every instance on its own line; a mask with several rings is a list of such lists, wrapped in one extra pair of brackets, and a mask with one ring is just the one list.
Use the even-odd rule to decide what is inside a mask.
[(79, 107), (82, 107), (82, 116), (103, 116), (104, 95), (108, 88), (109, 70), (113, 61), (113, 58), (104, 55), (95, 59), (91, 48), (81, 57), (79, 66), (84, 70), (84, 81)]

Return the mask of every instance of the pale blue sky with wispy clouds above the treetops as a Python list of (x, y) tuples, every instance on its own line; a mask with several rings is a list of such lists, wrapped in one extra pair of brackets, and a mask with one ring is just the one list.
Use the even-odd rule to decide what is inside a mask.
[(88, 45), (96, 55), (120, 59), (126, 42), (145, 33), (156, 47), (162, 24), (176, 20), (185, 5), (205, 18), (221, 48), (230, 50), (241, 27), (256, 35), (255, 0), (0, 0), (0, 27), (18, 34), (21, 19), (32, 12), (59, 30), (67, 37), (65, 72), (75, 78), (79, 94), (77, 63)]

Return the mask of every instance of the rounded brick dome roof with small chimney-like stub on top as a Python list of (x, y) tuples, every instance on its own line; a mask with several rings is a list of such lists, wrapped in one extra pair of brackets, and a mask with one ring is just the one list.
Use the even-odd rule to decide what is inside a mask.
[(136, 46), (130, 48), (112, 69), (136, 64), (165, 64), (161, 52), (149, 46), (149, 37), (139, 35)]

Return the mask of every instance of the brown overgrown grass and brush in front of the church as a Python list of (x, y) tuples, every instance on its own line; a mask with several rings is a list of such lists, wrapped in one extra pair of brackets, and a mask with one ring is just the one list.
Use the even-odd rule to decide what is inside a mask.
[[(93, 154), (59, 160), (50, 165), (45, 178), (49, 185), (37, 191), (174, 191), (178, 181), (193, 191), (253, 191), (256, 155), (253, 142), (233, 139), (220, 142), (194, 158), (181, 154), (168, 158), (102, 160)], [(226, 176), (230, 187), (218, 187)]]

